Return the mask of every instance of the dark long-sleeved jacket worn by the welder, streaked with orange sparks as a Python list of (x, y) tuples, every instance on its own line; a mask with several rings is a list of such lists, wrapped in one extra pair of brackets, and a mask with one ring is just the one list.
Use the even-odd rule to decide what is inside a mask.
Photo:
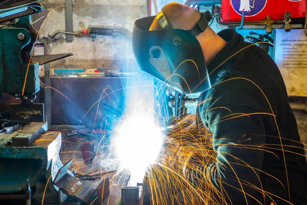
[(278, 67), (234, 30), (218, 35), (229, 43), (208, 66), (212, 87), (199, 107), (217, 163), (198, 172), (229, 204), (307, 204), (304, 147)]

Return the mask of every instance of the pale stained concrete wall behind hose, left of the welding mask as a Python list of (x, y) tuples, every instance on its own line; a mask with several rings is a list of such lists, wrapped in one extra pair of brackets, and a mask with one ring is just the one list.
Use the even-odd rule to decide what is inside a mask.
[[(45, 43), (45, 54), (74, 54), (52, 63), (51, 68), (115, 68), (123, 71), (127, 67), (129, 70), (137, 68), (131, 43), (119, 36), (74, 37), (72, 43), (66, 43), (65, 34), (59, 34), (47, 44), (47, 39), (54, 33), (65, 31), (65, 1), (44, 0), (40, 3), (49, 14), (52, 11), (39, 35)], [(145, 16), (146, 0), (75, 0), (73, 28), (80, 32), (89, 26), (117, 26), (132, 31), (135, 20)]]

